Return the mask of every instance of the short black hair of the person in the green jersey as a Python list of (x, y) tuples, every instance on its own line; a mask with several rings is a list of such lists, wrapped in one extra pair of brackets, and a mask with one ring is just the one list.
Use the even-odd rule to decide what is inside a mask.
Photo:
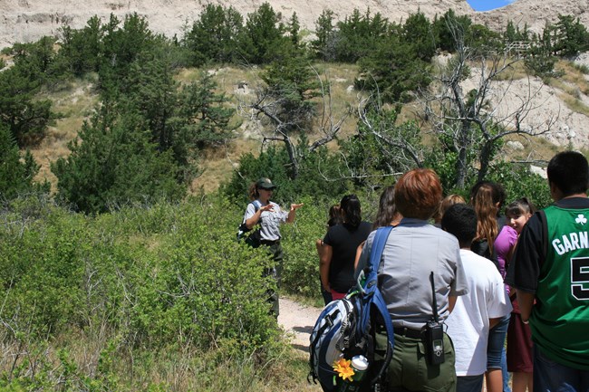
[(587, 159), (580, 152), (559, 152), (548, 162), (546, 174), (548, 182), (554, 184), (563, 193), (563, 196), (587, 191), (589, 167)]

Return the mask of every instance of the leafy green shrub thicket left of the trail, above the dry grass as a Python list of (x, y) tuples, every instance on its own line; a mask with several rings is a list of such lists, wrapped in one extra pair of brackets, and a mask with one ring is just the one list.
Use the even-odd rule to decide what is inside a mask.
[[(235, 241), (241, 211), (193, 201), (94, 218), (53, 206), (3, 225), (3, 317), (15, 332), (39, 336), (105, 323), (130, 347), (264, 348), (277, 331), (266, 304), (272, 282), (262, 277), (266, 254)], [(22, 209), (8, 206), (3, 216)]]

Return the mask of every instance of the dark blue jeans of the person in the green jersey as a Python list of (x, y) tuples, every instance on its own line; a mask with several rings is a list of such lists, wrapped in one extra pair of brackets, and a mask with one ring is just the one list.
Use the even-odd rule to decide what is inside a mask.
[(589, 370), (569, 368), (534, 347), (534, 392), (588, 392)]

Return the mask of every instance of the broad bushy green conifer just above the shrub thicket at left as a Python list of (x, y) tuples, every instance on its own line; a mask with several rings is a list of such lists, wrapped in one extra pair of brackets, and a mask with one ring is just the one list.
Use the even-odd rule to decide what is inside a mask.
[(178, 200), (186, 186), (169, 151), (159, 152), (150, 131), (130, 108), (104, 105), (82, 125), (71, 154), (51, 168), (58, 178), (58, 196), (84, 213), (110, 206)]

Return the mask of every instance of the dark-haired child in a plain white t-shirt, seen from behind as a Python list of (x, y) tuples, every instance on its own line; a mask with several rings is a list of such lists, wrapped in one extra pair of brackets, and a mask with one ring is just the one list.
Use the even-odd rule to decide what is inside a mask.
[(495, 264), (470, 250), (477, 234), (472, 206), (449, 206), (441, 227), (460, 244), (460, 259), (467, 277), (468, 294), (460, 296), (446, 324), (456, 350), (457, 392), (480, 392), (487, 370), (488, 332), (511, 311), (503, 278)]

